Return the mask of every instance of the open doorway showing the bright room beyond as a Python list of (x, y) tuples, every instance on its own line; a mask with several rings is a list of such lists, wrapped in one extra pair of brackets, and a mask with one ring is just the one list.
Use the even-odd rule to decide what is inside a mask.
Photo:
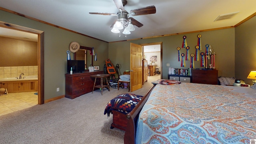
[[(148, 61), (148, 81), (152, 82), (162, 78), (162, 42), (140, 44), (143, 46), (143, 57)], [(153, 68), (153, 70), (152, 70)], [(156, 69), (159, 73), (156, 73)]]

